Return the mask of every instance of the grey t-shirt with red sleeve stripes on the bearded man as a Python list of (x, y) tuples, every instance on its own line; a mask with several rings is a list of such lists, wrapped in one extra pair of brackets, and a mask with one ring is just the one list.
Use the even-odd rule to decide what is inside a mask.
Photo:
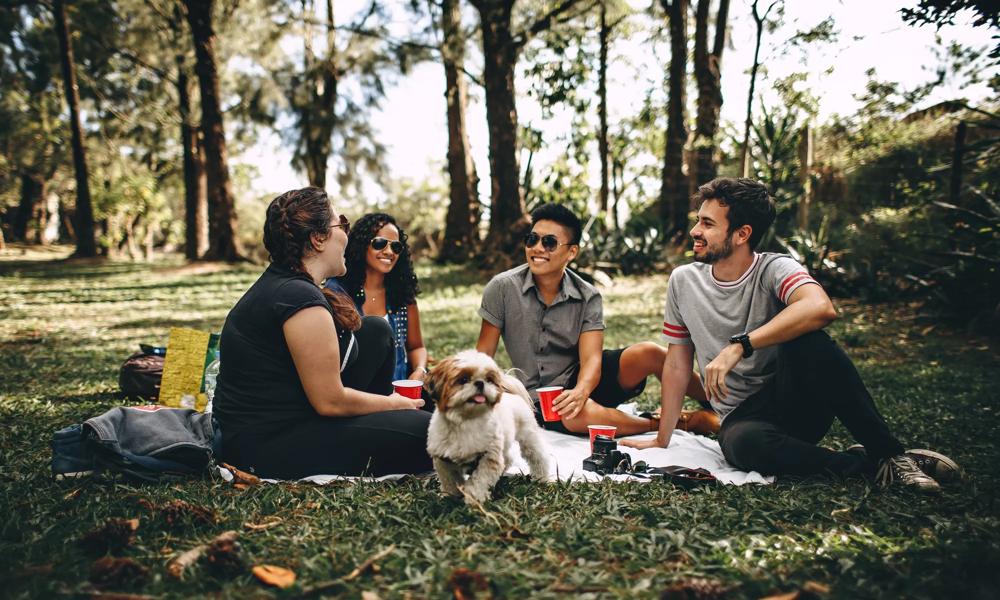
[[(702, 378), (708, 363), (729, 345), (729, 338), (750, 332), (778, 314), (799, 287), (816, 283), (805, 267), (787, 254), (755, 253), (753, 263), (736, 281), (719, 281), (712, 265), (678, 267), (667, 282), (663, 339), (669, 344), (694, 344)], [(817, 284), (818, 285), (818, 284)], [(729, 396), (712, 399), (726, 418), (741, 402), (774, 376), (777, 346), (761, 348), (744, 358), (726, 376)]]

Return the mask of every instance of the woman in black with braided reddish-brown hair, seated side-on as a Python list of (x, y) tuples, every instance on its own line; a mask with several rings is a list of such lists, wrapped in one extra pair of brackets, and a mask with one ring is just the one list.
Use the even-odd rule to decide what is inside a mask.
[(279, 479), (431, 469), (424, 402), (392, 391), (392, 330), (321, 287), (346, 271), (349, 229), (318, 188), (268, 206), (271, 264), (222, 328), (222, 460)]

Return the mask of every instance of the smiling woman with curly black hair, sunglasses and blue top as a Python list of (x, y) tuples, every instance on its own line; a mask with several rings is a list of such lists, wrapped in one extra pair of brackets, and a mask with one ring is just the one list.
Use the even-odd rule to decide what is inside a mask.
[(327, 281), (327, 289), (346, 291), (362, 315), (388, 321), (396, 343), (393, 377), (423, 381), (427, 348), (417, 308), (420, 287), (406, 240), (406, 232), (391, 215), (361, 217), (347, 240), (347, 275)]

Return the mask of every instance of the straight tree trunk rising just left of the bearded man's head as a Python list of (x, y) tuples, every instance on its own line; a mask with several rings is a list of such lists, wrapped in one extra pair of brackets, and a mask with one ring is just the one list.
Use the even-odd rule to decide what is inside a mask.
[(684, 172), (687, 143), (687, 13), (688, 0), (660, 0), (670, 25), (670, 84), (667, 135), (660, 186), (660, 214), (670, 237), (683, 235), (688, 221), (688, 183)]

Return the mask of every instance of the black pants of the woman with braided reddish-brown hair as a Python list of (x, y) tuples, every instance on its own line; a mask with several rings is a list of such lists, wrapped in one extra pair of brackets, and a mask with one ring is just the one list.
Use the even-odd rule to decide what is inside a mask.
[[(396, 355), (389, 324), (365, 317), (355, 337), (359, 352), (341, 373), (344, 385), (391, 393)], [(237, 467), (276, 479), (422, 473), (432, 468), (427, 455), (430, 419), (430, 413), (422, 410), (338, 418), (316, 415), (277, 431), (224, 438), (224, 455)]]

